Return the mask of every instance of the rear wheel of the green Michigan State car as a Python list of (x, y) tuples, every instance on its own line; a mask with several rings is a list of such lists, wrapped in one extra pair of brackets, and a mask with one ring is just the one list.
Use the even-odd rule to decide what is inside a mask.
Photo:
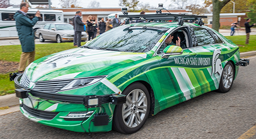
[(229, 61), (222, 72), (218, 92), (226, 93), (230, 90), (234, 81), (234, 66)]

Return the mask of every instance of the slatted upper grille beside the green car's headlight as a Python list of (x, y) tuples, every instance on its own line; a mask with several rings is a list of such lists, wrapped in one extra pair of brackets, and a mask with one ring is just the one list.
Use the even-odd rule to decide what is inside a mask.
[(56, 80), (56, 81), (41, 81), (36, 82), (33, 90), (45, 91), (45, 92), (58, 92), (61, 88), (65, 87), (72, 80)]

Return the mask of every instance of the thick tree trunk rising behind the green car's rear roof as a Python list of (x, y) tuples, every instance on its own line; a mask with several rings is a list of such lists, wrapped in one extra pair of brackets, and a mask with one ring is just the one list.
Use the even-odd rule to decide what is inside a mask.
[(210, 6), (210, 4), (213, 4), (213, 26), (212, 28), (216, 31), (219, 31), (220, 27), (220, 11), (221, 9), (229, 2), (230, 0), (205, 0), (206, 6)]

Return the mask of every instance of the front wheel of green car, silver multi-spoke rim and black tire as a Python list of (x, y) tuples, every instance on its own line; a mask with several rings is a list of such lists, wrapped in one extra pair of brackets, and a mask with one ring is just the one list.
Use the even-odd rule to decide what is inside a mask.
[(149, 116), (149, 91), (142, 83), (136, 82), (128, 86), (122, 94), (127, 95), (126, 103), (115, 108), (113, 130), (127, 134), (137, 132)]

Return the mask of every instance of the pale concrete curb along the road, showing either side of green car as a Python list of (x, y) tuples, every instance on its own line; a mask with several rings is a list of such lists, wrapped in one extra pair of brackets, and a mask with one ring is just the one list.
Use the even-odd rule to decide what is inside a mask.
[[(240, 53), (240, 57), (249, 57), (249, 56), (255, 56), (256, 51), (250, 51), (250, 52), (243, 52)], [(4, 95), (0, 96), (0, 107), (6, 107), (6, 106), (14, 106), (19, 104), (19, 98), (16, 97), (16, 94), (10, 94), (10, 95)], [(0, 110), (0, 116), (6, 115), (11, 112), (19, 111), (19, 106), (14, 106), (11, 108), (8, 108), (7, 110)]]

